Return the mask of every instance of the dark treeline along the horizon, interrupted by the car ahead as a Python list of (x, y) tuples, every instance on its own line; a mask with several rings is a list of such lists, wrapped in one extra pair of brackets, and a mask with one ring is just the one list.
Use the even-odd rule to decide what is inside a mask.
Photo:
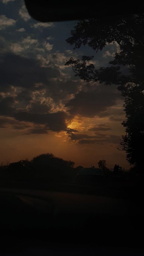
[[(83, 166), (74, 168), (73, 161), (66, 161), (62, 158), (54, 156), (52, 153), (40, 154), (33, 157), (32, 160), (20, 160), (18, 162), (2, 163), (0, 165), (1, 180), (17, 180), (17, 179), (33, 179), (40, 180), (47, 177), (46, 181), (54, 182), (72, 182), (77, 172)], [(100, 160), (96, 168), (102, 168), (106, 177), (112, 176), (114, 173), (106, 167), (106, 161)], [(118, 175), (136, 174), (136, 168), (130, 168), (129, 173), (118, 173)]]

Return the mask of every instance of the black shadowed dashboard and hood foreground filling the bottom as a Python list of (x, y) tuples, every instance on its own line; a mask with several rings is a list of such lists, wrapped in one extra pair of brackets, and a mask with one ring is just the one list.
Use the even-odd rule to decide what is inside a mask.
[(1, 183), (3, 253), (104, 255), (109, 250), (111, 255), (141, 255), (143, 251), (142, 188)]

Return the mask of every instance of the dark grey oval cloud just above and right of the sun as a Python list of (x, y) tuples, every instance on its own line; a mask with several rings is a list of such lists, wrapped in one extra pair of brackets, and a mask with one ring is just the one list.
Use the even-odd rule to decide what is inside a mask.
[(67, 102), (65, 106), (70, 108), (70, 114), (94, 117), (115, 105), (119, 98), (121, 98), (120, 93), (115, 92), (113, 88), (98, 85), (94, 91), (77, 93), (75, 98)]

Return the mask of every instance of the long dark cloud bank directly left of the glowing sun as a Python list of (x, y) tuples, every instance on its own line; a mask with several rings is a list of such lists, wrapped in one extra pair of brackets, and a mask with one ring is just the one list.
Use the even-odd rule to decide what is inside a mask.
[(47, 129), (52, 131), (67, 130), (65, 123), (67, 114), (65, 112), (56, 112), (51, 114), (32, 114), (28, 112), (18, 112), (14, 114), (14, 117), (18, 121), (45, 124)]

